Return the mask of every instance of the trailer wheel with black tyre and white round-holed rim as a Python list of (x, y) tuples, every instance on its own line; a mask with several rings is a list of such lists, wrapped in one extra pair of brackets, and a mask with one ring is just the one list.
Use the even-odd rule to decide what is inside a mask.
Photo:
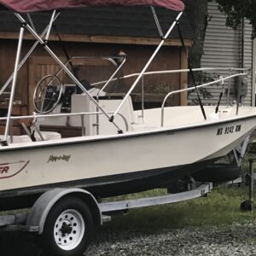
[(81, 199), (62, 198), (51, 208), (41, 235), (47, 255), (83, 255), (94, 232), (89, 207)]

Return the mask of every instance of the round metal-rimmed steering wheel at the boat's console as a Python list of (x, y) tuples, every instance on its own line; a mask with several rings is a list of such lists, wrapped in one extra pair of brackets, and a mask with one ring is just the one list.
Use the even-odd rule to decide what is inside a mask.
[(38, 113), (53, 111), (61, 100), (63, 85), (55, 75), (47, 75), (41, 79), (34, 91), (33, 103)]

